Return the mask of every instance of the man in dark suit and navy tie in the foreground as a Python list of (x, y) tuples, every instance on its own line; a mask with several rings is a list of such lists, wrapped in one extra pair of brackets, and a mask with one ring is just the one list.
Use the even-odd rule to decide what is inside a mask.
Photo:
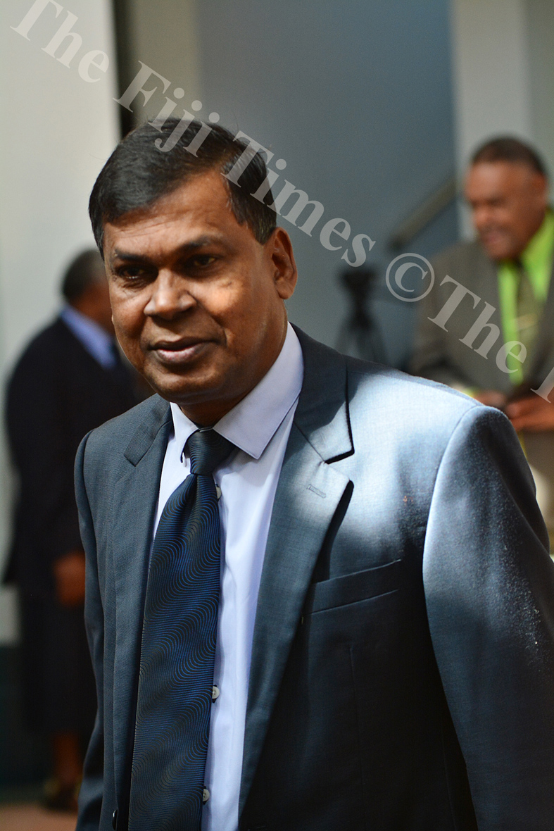
[(290, 327), (260, 155), (181, 128), (130, 133), (91, 194), (158, 395), (76, 460), (77, 828), (552, 829), (554, 567), (512, 426)]

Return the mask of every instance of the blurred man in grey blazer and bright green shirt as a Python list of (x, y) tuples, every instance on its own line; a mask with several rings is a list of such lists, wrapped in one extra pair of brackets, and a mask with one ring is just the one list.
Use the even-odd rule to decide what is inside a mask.
[[(478, 238), (434, 259), (411, 369), (506, 411), (552, 541), (554, 406), (547, 395), (554, 385), (532, 392), (554, 368), (554, 214), (545, 166), (519, 140), (490, 140), (473, 155), (466, 197)], [(510, 342), (513, 354), (504, 359), (499, 347)]]

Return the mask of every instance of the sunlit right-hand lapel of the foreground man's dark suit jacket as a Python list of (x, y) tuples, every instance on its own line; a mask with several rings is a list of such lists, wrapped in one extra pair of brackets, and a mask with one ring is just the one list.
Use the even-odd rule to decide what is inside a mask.
[(354, 452), (345, 360), (302, 332), (297, 334), (304, 381), (277, 484), (257, 601), (239, 815), (252, 785), (311, 573), (349, 484), (328, 462)]

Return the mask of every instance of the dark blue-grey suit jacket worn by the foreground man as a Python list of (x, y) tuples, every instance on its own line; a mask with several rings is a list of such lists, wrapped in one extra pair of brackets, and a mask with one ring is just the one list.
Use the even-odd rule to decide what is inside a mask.
[[(552, 831), (554, 567), (511, 425), (298, 334), (305, 377), (258, 599), (239, 828)], [(115, 810), (126, 828), (170, 424), (154, 397), (77, 457), (100, 701), (78, 831), (109, 831)]]

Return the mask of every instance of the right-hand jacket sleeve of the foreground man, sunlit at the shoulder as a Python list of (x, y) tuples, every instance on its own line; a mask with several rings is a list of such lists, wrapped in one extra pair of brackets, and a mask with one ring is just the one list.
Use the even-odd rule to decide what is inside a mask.
[(479, 831), (554, 828), (554, 565), (517, 437), (458, 422), (424, 545), (429, 627)]

